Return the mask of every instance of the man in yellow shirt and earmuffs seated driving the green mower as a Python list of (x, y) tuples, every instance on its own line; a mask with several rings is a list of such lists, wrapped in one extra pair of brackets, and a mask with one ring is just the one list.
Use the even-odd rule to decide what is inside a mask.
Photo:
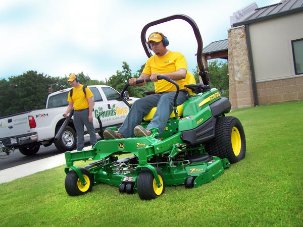
[[(177, 98), (177, 105), (182, 104), (188, 97), (188, 93), (184, 87), (187, 84), (185, 80), (187, 64), (184, 56), (179, 52), (173, 52), (166, 48), (169, 41), (161, 32), (151, 33), (147, 44), (155, 52), (155, 55), (147, 60), (140, 77), (129, 79), (129, 84), (132, 86), (143, 86), (146, 83), (145, 79), (150, 78), (151, 81), (155, 82), (156, 94), (136, 100), (132, 104), (119, 131), (113, 132), (110, 129), (106, 129), (104, 131), (105, 139), (133, 137), (134, 135), (136, 137), (150, 136), (151, 128), (158, 128), (159, 135), (163, 133), (167, 120), (173, 110), (176, 87), (166, 80), (158, 81), (158, 76), (167, 76), (178, 83), (180, 92)], [(136, 84), (136, 81), (140, 79), (143, 79), (144, 82)], [(143, 117), (155, 106), (157, 106), (157, 111), (146, 129), (144, 129), (139, 124)]]

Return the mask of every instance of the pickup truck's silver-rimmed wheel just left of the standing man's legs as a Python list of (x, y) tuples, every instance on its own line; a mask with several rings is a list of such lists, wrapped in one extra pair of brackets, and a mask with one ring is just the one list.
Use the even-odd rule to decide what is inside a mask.
[[(56, 130), (56, 134), (58, 130)], [(66, 126), (61, 137), (58, 140), (54, 140), (55, 146), (57, 147), (58, 150), (62, 152), (73, 150), (76, 146), (76, 143), (77, 143), (76, 132), (70, 126)]]

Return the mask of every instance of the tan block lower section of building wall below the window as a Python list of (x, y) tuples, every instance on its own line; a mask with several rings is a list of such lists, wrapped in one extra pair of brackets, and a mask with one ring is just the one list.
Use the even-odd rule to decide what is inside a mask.
[(259, 105), (303, 100), (303, 76), (257, 83)]

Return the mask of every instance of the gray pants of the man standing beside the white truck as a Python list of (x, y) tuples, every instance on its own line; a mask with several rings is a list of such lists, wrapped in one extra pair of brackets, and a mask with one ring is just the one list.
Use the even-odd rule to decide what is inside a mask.
[(84, 147), (84, 125), (89, 133), (90, 145), (97, 143), (97, 136), (93, 128), (92, 122), (88, 121), (89, 110), (74, 111), (74, 126), (77, 131), (77, 150), (83, 150)]

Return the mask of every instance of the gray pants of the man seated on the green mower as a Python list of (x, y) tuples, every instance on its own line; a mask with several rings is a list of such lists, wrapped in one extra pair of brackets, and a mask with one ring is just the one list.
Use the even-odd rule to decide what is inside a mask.
[[(153, 119), (147, 125), (146, 129), (150, 130), (151, 128), (158, 128), (159, 135), (164, 131), (166, 123), (169, 119), (171, 112), (174, 107), (174, 96), (175, 91), (163, 92), (158, 94), (152, 94), (145, 96), (136, 100), (129, 113), (122, 124), (119, 132), (124, 137), (134, 137), (134, 128), (143, 120), (143, 117), (155, 106), (157, 106), (157, 111), (154, 114)], [(186, 91), (180, 91), (177, 98), (177, 105), (182, 104), (187, 100), (188, 93)]]

